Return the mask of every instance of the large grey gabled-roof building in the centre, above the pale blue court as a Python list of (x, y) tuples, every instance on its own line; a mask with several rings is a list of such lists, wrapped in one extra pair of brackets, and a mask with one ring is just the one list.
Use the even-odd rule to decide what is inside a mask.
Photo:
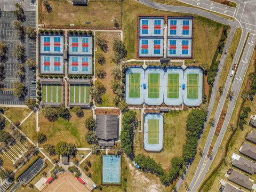
[(97, 115), (96, 135), (100, 146), (114, 146), (118, 139), (118, 116)]

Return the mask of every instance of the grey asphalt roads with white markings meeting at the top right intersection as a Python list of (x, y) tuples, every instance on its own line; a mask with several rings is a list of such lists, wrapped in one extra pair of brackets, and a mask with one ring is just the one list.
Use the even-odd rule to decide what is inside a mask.
[[(238, 27), (242, 27), (243, 28), (242, 37), (241, 37), (241, 40), (238, 44), (238, 47), (237, 47), (237, 50), (236, 50), (236, 53), (235, 53), (235, 57), (234, 57), (234, 60), (233, 60), (232, 64), (237, 63), (238, 60), (239, 60), (239, 56), (242, 53), (242, 49), (243, 49), (243, 45), (244, 45), (247, 33), (248, 32), (252, 33), (250, 35), (249, 39), (248, 39), (248, 42), (250, 43), (250, 45), (246, 44), (245, 50), (244, 50), (243, 55), (242, 55), (241, 62), (239, 63), (239, 66), (238, 66), (238, 69), (237, 69), (238, 72), (236, 73), (236, 76), (234, 77), (235, 78), (234, 83), (233, 83), (233, 86), (231, 87), (231, 90), (234, 92), (234, 97), (233, 97), (233, 100), (229, 102), (225, 122), (223, 123), (223, 126), (222, 126), (221, 132), (219, 134), (219, 137), (217, 139), (217, 142), (215, 143), (214, 148), (212, 150), (212, 157), (214, 158), (217, 151), (218, 151), (220, 143), (223, 139), (223, 135), (225, 134), (225, 132), (227, 130), (228, 123), (230, 121), (231, 114), (233, 113), (235, 102), (236, 102), (239, 90), (241, 89), (241, 86), (242, 86), (242, 83), (243, 83), (243, 78), (244, 78), (244, 75), (246, 73), (246, 70), (247, 70), (247, 67), (249, 65), (250, 58), (251, 58), (251, 55), (252, 55), (252, 52), (253, 52), (253, 49), (254, 49), (255, 35), (253, 35), (253, 33), (256, 32), (256, 26), (254, 26), (252, 23), (256, 23), (255, 22), (255, 17), (254, 17), (254, 10), (256, 10), (256, 9), (253, 10), (253, 8), (255, 7), (256, 1), (255, 2), (241, 2), (241, 1), (238, 1), (237, 2), (237, 5), (238, 5), (237, 8), (227, 7), (225, 5), (214, 3), (214, 2), (209, 1), (209, 0), (197, 0), (197, 1), (194, 1), (194, 0), (180, 0), (180, 1), (184, 2), (184, 3), (188, 3), (190, 5), (198, 6), (202, 9), (218, 12), (218, 13), (221, 13), (221, 14), (226, 14), (230, 17), (236, 17), (237, 19), (234, 20), (234, 21), (231, 21), (229, 19), (219, 17), (219, 16), (217, 16), (217, 15), (211, 13), (211, 12), (207, 12), (207, 11), (204, 11), (204, 10), (201, 10), (201, 9), (197, 9), (195, 7), (171, 6), (171, 5), (158, 4), (158, 3), (155, 3), (155, 2), (151, 2), (149, 0), (147, 0), (147, 1), (146, 0), (144, 0), (144, 1), (140, 0), (140, 2), (142, 4), (145, 4), (145, 5), (150, 6), (150, 7), (154, 7), (155, 9), (164, 10), (164, 11), (171, 11), (171, 12), (183, 12), (183, 13), (190, 13), (190, 14), (191, 13), (192, 14), (198, 14), (198, 15), (202, 15), (203, 17), (206, 17), (206, 18), (224, 23), (226, 25), (229, 25), (231, 27), (231, 31), (230, 31), (230, 35), (228, 37), (227, 43), (225, 45), (225, 50), (229, 49), (231, 39), (234, 36), (234, 30)], [(246, 18), (246, 19), (244, 19), (244, 18)], [(246, 22), (244, 22), (244, 21), (246, 21)], [(213, 105), (214, 105), (214, 102), (215, 102), (215, 96), (216, 96), (217, 88), (218, 88), (217, 85), (218, 85), (218, 82), (219, 82), (221, 70), (222, 70), (223, 64), (225, 63), (225, 60), (226, 60), (225, 54), (222, 54), (222, 57), (221, 57), (221, 60), (220, 60), (219, 72), (218, 72), (217, 77), (215, 78), (214, 87), (213, 87), (213, 91), (212, 91), (212, 95), (211, 95), (211, 101), (209, 103), (209, 108), (208, 108), (209, 114), (211, 114), (212, 108), (213, 108)], [(229, 69), (229, 73), (230, 72), (231, 72), (231, 68)], [(227, 81), (225, 83), (225, 89), (223, 90), (223, 94), (222, 94), (222, 96), (220, 98), (220, 101), (218, 103), (217, 111), (214, 115), (215, 122), (218, 122), (218, 119), (220, 117), (223, 105), (225, 103), (225, 100), (226, 100), (226, 97), (227, 97), (227, 94), (228, 94), (229, 87), (231, 85), (231, 81), (232, 81), (232, 77), (228, 76)], [(190, 183), (189, 189), (191, 191), (196, 191), (198, 189), (198, 187), (202, 183), (207, 171), (209, 170), (209, 167), (211, 166), (212, 160), (207, 158), (206, 156), (207, 156), (207, 153), (209, 151), (209, 148), (210, 148), (210, 145), (211, 145), (211, 142), (212, 142), (212, 139), (213, 139), (213, 135), (214, 135), (214, 132), (215, 132), (215, 126), (211, 127), (211, 130), (210, 130), (209, 135), (208, 135), (207, 140), (206, 140), (206, 145), (205, 145), (205, 148), (204, 148), (203, 156), (202, 156), (201, 161), (198, 165), (197, 171), (194, 175), (194, 179)], [(176, 187), (178, 189), (180, 188), (182, 182), (183, 182), (183, 179), (180, 178), (177, 185), (176, 185)]]

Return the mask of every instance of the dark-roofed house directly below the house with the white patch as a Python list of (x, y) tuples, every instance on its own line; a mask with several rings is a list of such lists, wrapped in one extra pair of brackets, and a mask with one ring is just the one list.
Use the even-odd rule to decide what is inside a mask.
[(232, 168), (229, 168), (227, 171), (227, 178), (230, 181), (233, 181), (234, 183), (237, 183), (238, 185), (251, 190), (253, 186), (253, 181), (250, 180), (250, 178), (243, 173), (236, 171)]

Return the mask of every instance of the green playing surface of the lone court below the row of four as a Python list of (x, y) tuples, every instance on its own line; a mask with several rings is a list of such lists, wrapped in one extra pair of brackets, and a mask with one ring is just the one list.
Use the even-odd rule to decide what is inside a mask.
[(148, 144), (159, 142), (159, 119), (148, 119)]

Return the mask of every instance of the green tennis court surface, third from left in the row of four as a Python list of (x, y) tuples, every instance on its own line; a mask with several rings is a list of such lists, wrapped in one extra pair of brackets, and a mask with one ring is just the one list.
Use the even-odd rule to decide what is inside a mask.
[(179, 98), (180, 74), (168, 74), (167, 98)]

